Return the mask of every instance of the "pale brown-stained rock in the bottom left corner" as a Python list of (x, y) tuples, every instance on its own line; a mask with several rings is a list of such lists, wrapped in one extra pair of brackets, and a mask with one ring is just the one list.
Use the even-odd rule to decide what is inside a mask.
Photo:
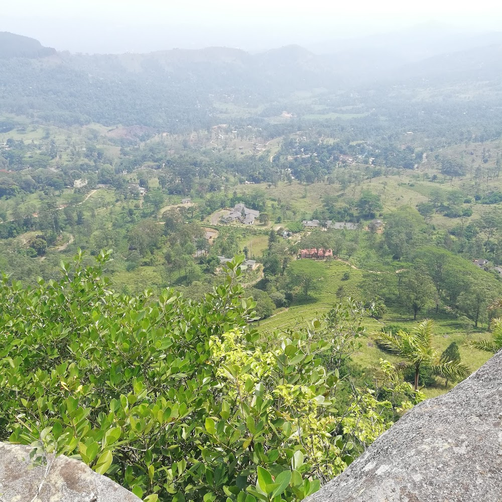
[(64, 455), (30, 458), (31, 446), (0, 443), (2, 502), (141, 502), (130, 491)]

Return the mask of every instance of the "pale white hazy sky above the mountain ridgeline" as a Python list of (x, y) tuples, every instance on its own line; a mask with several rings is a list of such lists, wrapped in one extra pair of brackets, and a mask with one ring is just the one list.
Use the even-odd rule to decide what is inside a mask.
[(502, 3), (494, 0), (16, 0), (2, 4), (0, 31), (31, 36), (72, 52), (211, 45), (259, 50), (430, 22), (502, 29)]

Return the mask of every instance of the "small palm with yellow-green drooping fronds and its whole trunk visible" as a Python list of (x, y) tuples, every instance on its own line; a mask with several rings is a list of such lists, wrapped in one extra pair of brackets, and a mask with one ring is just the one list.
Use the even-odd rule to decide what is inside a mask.
[(431, 368), (434, 373), (451, 380), (462, 380), (470, 369), (459, 361), (446, 361), (432, 346), (434, 323), (424, 319), (409, 333), (400, 329), (397, 333), (381, 331), (373, 335), (376, 343), (396, 352), (406, 360), (406, 365), (415, 369), (415, 390), (418, 391), (418, 377), (421, 367)]

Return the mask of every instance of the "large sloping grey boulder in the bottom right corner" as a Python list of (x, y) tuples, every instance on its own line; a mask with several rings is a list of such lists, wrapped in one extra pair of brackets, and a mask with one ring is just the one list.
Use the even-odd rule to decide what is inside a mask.
[(406, 413), (306, 502), (502, 501), (502, 352)]

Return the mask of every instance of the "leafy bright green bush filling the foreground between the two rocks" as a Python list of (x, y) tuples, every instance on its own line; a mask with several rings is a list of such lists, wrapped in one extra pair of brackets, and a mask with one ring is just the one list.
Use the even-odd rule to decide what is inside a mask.
[(393, 404), (354, 390), (337, 407), (336, 366), (362, 333), (353, 304), (260, 340), (240, 259), (193, 303), (113, 293), (110, 253), (93, 267), (79, 253), (32, 289), (3, 277), (0, 439), (80, 458), (149, 502), (289, 501), (341, 472), (393, 405), (411, 405), (401, 384)]

